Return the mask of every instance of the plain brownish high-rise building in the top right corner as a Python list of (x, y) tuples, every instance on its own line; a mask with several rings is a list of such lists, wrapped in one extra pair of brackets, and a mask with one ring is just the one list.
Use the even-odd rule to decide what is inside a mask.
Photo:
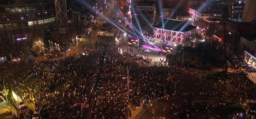
[(256, 0), (246, 0), (243, 11), (242, 22), (252, 22), (256, 20)]

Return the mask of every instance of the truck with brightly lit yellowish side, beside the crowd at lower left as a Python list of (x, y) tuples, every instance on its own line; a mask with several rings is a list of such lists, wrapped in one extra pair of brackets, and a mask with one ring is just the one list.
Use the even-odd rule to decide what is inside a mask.
[(27, 105), (23, 102), (23, 100), (18, 95), (16, 95), (16, 93), (14, 93), (13, 91), (11, 93), (12, 93), (12, 101), (15, 107), (18, 108), (19, 111), (21, 112), (26, 112), (28, 110)]

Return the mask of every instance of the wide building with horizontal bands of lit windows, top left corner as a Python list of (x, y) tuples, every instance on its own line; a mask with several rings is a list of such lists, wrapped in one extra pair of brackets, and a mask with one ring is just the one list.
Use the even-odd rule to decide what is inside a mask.
[(0, 0), (0, 42), (44, 39), (55, 20), (54, 0)]

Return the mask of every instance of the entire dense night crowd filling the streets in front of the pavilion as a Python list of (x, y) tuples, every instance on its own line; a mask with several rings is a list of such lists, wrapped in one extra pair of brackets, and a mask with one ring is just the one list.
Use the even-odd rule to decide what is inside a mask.
[[(87, 53), (87, 56), (71, 55), (4, 64), (1, 65), (0, 78), (6, 80), (8, 89), (40, 108), (42, 119), (75, 118), (87, 101), (95, 97), (97, 119), (131, 116), (128, 102), (145, 108), (152, 106), (152, 100), (171, 100), (172, 97), (255, 97), (255, 84), (248, 80), (245, 73), (228, 73), (226, 79), (211, 79), (197, 77), (179, 67), (142, 66), (141, 62), (152, 60), (141, 59), (128, 52), (120, 53), (118, 46), (113, 44), (88, 48)], [(44, 70), (46, 67), (49, 71)], [(44, 82), (37, 85), (30, 83), (38, 80)], [(231, 88), (228, 88), (226, 80), (230, 81)], [(55, 89), (58, 86), (63, 86), (63, 89)], [(233, 89), (238, 91), (234, 93)], [(161, 116), (166, 116), (166, 119), (188, 117), (213, 108), (210, 103), (171, 105), (172, 108), (160, 113)]]

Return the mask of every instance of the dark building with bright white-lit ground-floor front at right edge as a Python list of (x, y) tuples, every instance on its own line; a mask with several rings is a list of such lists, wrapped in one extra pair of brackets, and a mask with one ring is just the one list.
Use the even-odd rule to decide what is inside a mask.
[(241, 37), (240, 43), (244, 50), (244, 60), (256, 67), (256, 39)]

